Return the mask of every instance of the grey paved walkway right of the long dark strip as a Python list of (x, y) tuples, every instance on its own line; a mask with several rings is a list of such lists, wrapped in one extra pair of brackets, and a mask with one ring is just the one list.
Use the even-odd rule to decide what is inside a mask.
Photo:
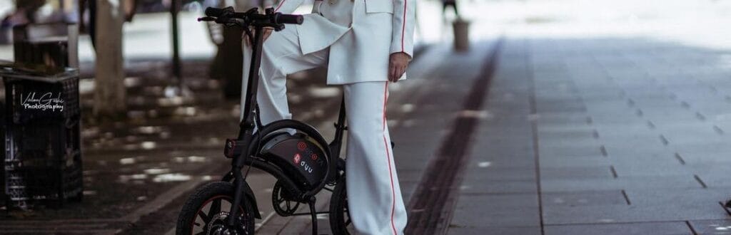
[(450, 234), (728, 233), (727, 54), (507, 36)]

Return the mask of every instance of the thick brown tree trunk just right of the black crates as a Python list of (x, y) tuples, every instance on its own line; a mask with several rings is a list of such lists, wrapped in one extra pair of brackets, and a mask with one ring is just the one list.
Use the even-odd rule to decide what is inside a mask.
[[(94, 81), (94, 115), (118, 118), (126, 112), (124, 58), (120, 0), (96, 1), (96, 75)], [(92, 12), (93, 13), (93, 12)]]

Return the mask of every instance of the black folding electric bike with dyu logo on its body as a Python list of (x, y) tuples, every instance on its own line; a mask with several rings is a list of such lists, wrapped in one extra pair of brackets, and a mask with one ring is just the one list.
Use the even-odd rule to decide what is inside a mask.
[[(235, 12), (232, 7), (209, 7), (205, 15), (198, 20), (241, 27), (253, 39), (251, 69), (238, 138), (227, 139), (224, 147), (224, 155), (231, 158), (231, 170), (221, 181), (208, 183), (189, 197), (178, 216), (176, 234), (254, 234), (254, 220), (262, 217), (246, 182), (251, 166), (276, 177), (272, 203), (277, 214), (310, 215), (312, 234), (317, 234), (317, 215), (329, 214), (333, 234), (349, 234), (352, 225), (347, 208), (345, 161), (340, 158), (347, 129), (344, 99), (335, 123), (335, 138), (329, 144), (306, 123), (288, 119), (262, 125), (259, 116), (262, 32), (265, 28), (281, 31), (284, 24), (301, 24), (303, 17), (274, 12), (272, 8), (260, 14), (256, 8)], [(242, 172), (244, 166), (249, 166), (246, 172)], [(330, 209), (317, 212), (315, 196), (323, 189), (332, 191)], [(298, 213), (300, 204), (308, 204), (309, 213)]]

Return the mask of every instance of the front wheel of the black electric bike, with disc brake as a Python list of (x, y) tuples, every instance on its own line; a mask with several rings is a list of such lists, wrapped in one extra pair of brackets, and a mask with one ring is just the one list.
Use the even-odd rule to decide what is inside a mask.
[[(183, 205), (183, 209), (178, 215), (175, 234), (209, 234), (221, 224), (221, 221), (225, 221), (225, 216), (221, 217), (221, 215), (230, 210), (233, 197), (234, 186), (230, 182), (211, 182), (197, 189)], [(227, 204), (224, 204), (224, 201)], [(208, 207), (208, 213), (205, 213), (203, 211), (208, 204), (211, 206)], [(239, 207), (239, 210), (242, 211), (240, 216), (243, 217), (243, 222), (238, 227), (238, 234), (254, 234), (254, 209), (251, 209), (251, 203), (244, 204)], [(214, 208), (219, 208), (218, 212), (213, 211)]]

